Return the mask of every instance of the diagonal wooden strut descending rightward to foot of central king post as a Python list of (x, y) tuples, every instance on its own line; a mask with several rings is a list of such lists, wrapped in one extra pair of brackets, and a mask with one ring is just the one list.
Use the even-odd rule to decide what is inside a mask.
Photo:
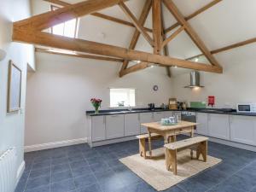
[(140, 25), (139, 21), (137, 20), (137, 18), (135, 17), (135, 15), (133, 15), (131, 13), (131, 10), (125, 5), (124, 2), (120, 2), (119, 3), (119, 7), (120, 9), (122, 9), (125, 13), (125, 15), (127, 15), (127, 17), (132, 21), (132, 23), (134, 24), (134, 26), (136, 26), (137, 31), (141, 32), (141, 34), (143, 35), (143, 37), (148, 41), (148, 44), (150, 44), (151, 46), (154, 46), (154, 42), (153, 39), (148, 35), (148, 33), (144, 30), (143, 26)]

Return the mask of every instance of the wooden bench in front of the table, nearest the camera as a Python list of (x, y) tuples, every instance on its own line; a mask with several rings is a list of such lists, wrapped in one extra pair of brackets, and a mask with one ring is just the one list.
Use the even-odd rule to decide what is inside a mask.
[[(166, 148), (166, 169), (177, 175), (177, 151), (196, 146), (196, 159), (199, 160), (200, 155), (207, 162), (207, 137), (192, 137), (175, 143), (165, 144)], [(193, 159), (193, 153), (191, 154)]]

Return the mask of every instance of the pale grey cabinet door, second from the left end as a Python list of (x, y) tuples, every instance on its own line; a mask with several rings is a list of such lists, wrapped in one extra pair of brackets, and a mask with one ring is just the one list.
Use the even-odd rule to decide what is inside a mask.
[(125, 120), (123, 114), (106, 116), (106, 137), (107, 139), (125, 136)]

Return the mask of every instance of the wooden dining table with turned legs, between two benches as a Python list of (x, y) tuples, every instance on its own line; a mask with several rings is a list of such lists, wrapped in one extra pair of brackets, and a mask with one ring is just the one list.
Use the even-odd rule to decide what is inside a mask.
[(144, 123), (143, 126), (148, 128), (148, 150), (152, 157), (151, 134), (157, 133), (164, 137), (165, 144), (176, 141), (176, 136), (188, 133), (190, 137), (194, 137), (194, 129), (197, 123), (180, 121), (177, 125), (160, 125), (160, 122)]

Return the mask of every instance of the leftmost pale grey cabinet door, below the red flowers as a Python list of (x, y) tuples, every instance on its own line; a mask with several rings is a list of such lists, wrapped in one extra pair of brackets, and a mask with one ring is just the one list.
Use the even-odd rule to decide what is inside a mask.
[(106, 139), (105, 116), (91, 118), (91, 141), (98, 142)]

